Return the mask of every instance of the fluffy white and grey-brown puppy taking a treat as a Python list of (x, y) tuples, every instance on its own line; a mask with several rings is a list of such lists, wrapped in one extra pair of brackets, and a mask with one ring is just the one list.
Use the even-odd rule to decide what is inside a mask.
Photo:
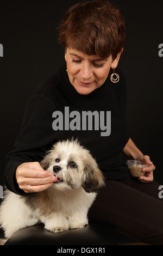
[(39, 222), (53, 232), (83, 228), (88, 223), (87, 211), (104, 186), (103, 174), (90, 152), (77, 141), (58, 142), (41, 166), (57, 178), (47, 190), (24, 197), (5, 192), (0, 224), (7, 238)]

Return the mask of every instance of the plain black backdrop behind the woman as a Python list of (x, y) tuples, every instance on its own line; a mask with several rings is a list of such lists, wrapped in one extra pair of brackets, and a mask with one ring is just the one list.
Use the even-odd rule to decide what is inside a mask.
[[(47, 76), (65, 62), (59, 25), (75, 0), (0, 0), (1, 171), (20, 132), (27, 100)], [(131, 138), (151, 157), (154, 179), (162, 171), (162, 0), (115, 0), (126, 19), (126, 42), (118, 67), (126, 75), (127, 118)]]

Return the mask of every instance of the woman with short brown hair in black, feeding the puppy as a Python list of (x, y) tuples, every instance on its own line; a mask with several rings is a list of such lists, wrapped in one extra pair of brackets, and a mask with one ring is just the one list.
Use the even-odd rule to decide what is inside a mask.
[[(125, 119), (126, 83), (117, 69), (125, 31), (120, 10), (109, 2), (81, 2), (67, 11), (59, 29), (66, 64), (30, 98), (21, 133), (7, 157), (5, 184), (23, 196), (52, 186), (55, 176), (39, 162), (54, 142), (73, 136), (91, 151), (106, 179), (89, 212), (90, 220), (102, 218), (130, 237), (161, 245), (163, 205), (159, 184), (153, 181), (155, 167), (131, 140)], [(81, 122), (83, 113), (93, 116), (96, 111), (100, 124), (95, 129), (92, 118), (91, 128), (75, 122), (67, 126), (66, 121), (60, 127), (56, 111), (69, 124), (73, 111), (80, 114)], [(122, 153), (149, 164), (145, 176), (130, 178)]]

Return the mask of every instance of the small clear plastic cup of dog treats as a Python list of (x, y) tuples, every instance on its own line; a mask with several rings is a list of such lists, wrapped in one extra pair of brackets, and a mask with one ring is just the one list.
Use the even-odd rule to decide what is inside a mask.
[(129, 174), (133, 177), (144, 176), (145, 172), (142, 169), (148, 167), (148, 164), (137, 160), (128, 160), (126, 164), (128, 165)]

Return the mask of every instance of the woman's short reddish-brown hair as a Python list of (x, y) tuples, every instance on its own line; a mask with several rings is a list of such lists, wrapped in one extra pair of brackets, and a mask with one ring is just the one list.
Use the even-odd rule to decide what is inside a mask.
[(102, 0), (73, 5), (59, 26), (59, 42), (87, 55), (114, 60), (124, 45), (125, 26), (121, 11)]

